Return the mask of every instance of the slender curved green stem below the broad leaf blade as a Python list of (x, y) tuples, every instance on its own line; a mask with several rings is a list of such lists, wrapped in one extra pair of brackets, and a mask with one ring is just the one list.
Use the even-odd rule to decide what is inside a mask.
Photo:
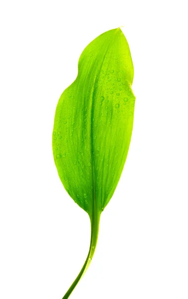
[(70, 294), (72, 293), (72, 291), (74, 290), (74, 288), (76, 287), (76, 285), (78, 284), (78, 282), (83, 277), (86, 270), (88, 269), (88, 267), (91, 263), (91, 260), (93, 258), (95, 248), (97, 245), (98, 234), (99, 234), (100, 213), (93, 213), (93, 215), (90, 217), (90, 221), (91, 221), (91, 241), (90, 241), (90, 248), (89, 248), (88, 256), (86, 258), (86, 261), (85, 261), (80, 273), (78, 274), (78, 276), (76, 277), (75, 281), (70, 286), (70, 288), (68, 289), (66, 294), (63, 296), (63, 299), (67, 299), (70, 296)]

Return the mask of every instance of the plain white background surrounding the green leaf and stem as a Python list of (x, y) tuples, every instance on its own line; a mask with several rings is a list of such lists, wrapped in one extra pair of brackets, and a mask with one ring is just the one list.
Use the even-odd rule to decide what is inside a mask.
[(124, 26), (134, 128), (71, 299), (188, 299), (187, 1), (0, 2), (0, 299), (62, 299), (89, 247), (87, 214), (52, 154), (56, 105), (78, 58)]

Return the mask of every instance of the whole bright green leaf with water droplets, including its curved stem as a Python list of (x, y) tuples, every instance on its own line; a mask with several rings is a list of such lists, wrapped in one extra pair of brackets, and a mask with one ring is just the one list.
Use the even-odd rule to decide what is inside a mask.
[(68, 298), (88, 268), (97, 243), (100, 214), (111, 199), (127, 156), (135, 97), (133, 65), (120, 28), (94, 39), (82, 52), (75, 81), (57, 105), (53, 153), (60, 179), (91, 220), (86, 262)]

